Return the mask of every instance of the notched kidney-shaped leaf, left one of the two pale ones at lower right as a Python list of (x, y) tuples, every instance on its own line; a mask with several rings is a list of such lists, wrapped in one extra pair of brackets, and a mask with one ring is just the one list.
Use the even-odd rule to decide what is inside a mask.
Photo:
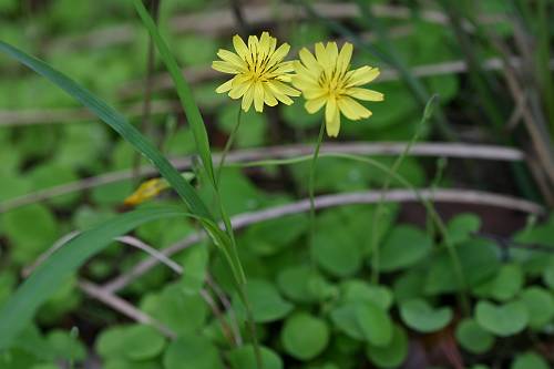
[(433, 309), (425, 300), (416, 298), (400, 304), (400, 317), (408, 327), (427, 334), (444, 328), (452, 320), (452, 309)]

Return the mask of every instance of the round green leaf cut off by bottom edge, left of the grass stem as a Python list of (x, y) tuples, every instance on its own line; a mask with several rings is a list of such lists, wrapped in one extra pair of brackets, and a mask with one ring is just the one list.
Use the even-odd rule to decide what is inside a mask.
[(217, 348), (198, 335), (182, 336), (164, 353), (165, 369), (223, 369)]

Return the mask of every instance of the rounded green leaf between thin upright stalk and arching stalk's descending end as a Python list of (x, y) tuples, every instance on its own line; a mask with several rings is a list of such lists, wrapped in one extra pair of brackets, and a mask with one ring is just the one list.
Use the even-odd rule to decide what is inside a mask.
[(432, 240), (421, 229), (408, 225), (394, 227), (382, 244), (379, 266), (382, 271), (403, 269), (423, 259)]

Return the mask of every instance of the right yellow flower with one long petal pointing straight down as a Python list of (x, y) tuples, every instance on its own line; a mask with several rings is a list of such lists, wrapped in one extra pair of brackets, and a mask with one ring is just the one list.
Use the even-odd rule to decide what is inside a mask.
[(336, 42), (316, 43), (316, 55), (302, 49), (300, 61), (295, 62), (293, 85), (306, 99), (306, 110), (314, 114), (325, 105), (327, 134), (336, 137), (340, 130), (340, 114), (352, 121), (366, 119), (371, 112), (357, 102), (382, 101), (383, 94), (360, 86), (373, 81), (379, 69), (361, 66), (349, 71), (352, 44), (346, 42), (338, 51)]

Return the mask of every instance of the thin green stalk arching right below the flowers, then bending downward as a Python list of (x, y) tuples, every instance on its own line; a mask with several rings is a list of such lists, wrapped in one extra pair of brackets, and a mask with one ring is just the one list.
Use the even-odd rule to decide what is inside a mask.
[[(404, 186), (408, 189), (413, 191), (416, 194), (416, 197), (418, 198), (418, 202), (420, 202), (424, 207), (425, 211), (430, 214), (431, 218), (437, 225), (437, 228), (439, 229), (439, 233), (441, 234), (441, 237), (444, 239), (444, 245), (448, 249), (449, 256), (451, 258), (452, 266), (454, 268), (454, 275), (458, 280), (458, 284), (460, 286), (460, 293), (459, 293), (459, 299), (460, 299), (460, 305), (463, 309), (464, 315), (470, 314), (470, 305), (469, 305), (469, 298), (466, 296), (466, 284), (465, 284), (465, 278), (463, 276), (463, 269), (462, 265), (460, 263), (460, 258), (458, 257), (458, 254), (455, 252), (455, 247), (450, 240), (449, 232), (448, 228), (440, 217), (439, 213), (434, 209), (433, 203), (421, 196), (420, 192), (408, 181), (406, 180), (402, 175), (391, 171), (389, 167), (386, 165), (379, 163), (376, 160), (372, 160), (370, 157), (365, 157), (365, 156), (359, 156), (359, 155), (352, 155), (352, 154), (343, 154), (343, 153), (321, 153), (319, 155), (320, 157), (339, 157), (339, 158), (346, 158), (346, 160), (351, 160), (351, 161), (357, 161), (361, 163), (369, 164), (384, 174), (390, 175), (393, 180), (398, 181), (402, 186)], [(302, 155), (302, 156), (297, 156), (297, 157), (291, 157), (291, 158), (283, 158), (283, 160), (267, 160), (267, 161), (257, 161), (257, 162), (250, 162), (250, 163), (229, 163), (228, 166), (235, 166), (235, 167), (252, 167), (252, 166), (268, 166), (268, 165), (290, 165), (290, 164), (298, 164), (298, 163), (304, 163), (309, 160), (311, 160), (311, 155)]]

